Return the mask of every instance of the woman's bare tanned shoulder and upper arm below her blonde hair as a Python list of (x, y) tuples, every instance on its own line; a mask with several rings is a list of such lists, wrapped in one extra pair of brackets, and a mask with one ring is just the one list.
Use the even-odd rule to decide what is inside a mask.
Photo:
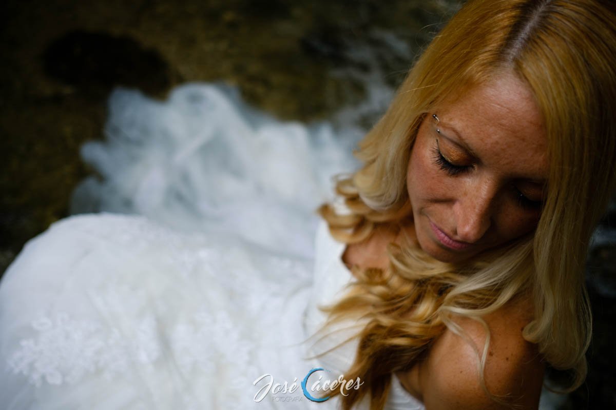
[[(537, 409), (544, 373), (537, 345), (522, 337), (522, 329), (532, 320), (530, 306), (529, 301), (519, 299), (484, 317), (490, 329), (485, 385), (490, 393), (521, 409)], [(456, 318), (455, 322), (482, 352), (485, 328), (468, 318)], [(426, 409), (510, 408), (484, 392), (477, 363), (472, 346), (447, 329), (419, 365), (418, 379)]]

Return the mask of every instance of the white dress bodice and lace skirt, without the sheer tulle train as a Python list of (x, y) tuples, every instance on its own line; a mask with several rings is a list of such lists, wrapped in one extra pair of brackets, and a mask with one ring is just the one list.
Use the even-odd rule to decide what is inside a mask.
[[(262, 374), (298, 384), (354, 344), (304, 342), (351, 275), (325, 225), (314, 261), (143, 216), (73, 216), (28, 242), (0, 286), (6, 409), (335, 408), (299, 388), (256, 403)], [(313, 268), (314, 264), (314, 268)], [(314, 269), (314, 271), (313, 271)], [(314, 278), (314, 279), (313, 279)], [(275, 401), (275, 397), (296, 401)], [(397, 380), (389, 409), (421, 408)]]

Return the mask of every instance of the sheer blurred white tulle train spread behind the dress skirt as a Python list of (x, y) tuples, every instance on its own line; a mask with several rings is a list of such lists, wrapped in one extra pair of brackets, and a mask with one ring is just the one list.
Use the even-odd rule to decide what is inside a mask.
[(185, 84), (166, 101), (117, 89), (105, 140), (81, 149), (96, 175), (73, 193), (71, 213), (145, 215), (313, 258), (314, 210), (331, 200), (332, 176), (357, 167), (359, 135), (275, 120), (221, 85)]

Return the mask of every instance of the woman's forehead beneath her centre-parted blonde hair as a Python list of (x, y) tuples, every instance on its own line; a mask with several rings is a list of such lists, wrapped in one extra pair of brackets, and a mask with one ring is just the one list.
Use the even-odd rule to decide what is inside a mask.
[(445, 136), (496, 173), (546, 180), (548, 141), (529, 87), (513, 74), (471, 87), (437, 110)]

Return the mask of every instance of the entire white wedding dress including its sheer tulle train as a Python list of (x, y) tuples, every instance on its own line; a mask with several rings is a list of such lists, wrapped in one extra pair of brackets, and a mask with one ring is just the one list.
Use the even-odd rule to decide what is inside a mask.
[[(116, 91), (106, 129), (73, 197), (99, 212), (52, 224), (0, 282), (0, 408), (337, 408), (299, 385), (344, 373), (361, 326), (317, 334), (352, 280), (314, 215), (349, 143), (212, 85)], [(394, 377), (387, 409), (423, 406)]]

